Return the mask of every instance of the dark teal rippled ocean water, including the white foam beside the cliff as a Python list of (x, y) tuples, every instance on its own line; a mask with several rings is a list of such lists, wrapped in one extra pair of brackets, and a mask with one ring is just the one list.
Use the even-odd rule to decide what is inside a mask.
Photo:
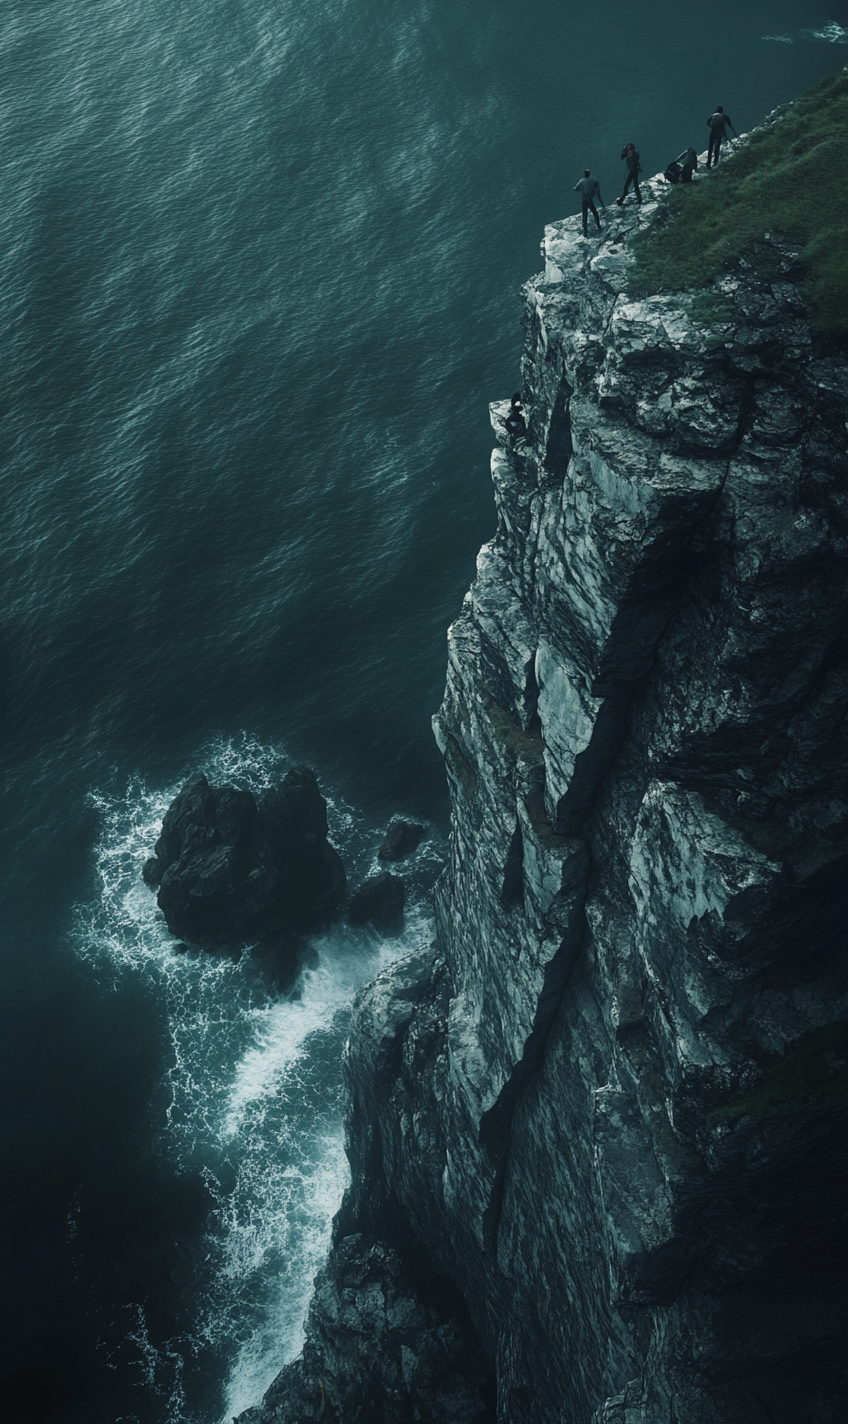
[[(748, 128), (845, 64), (848, 13), (3, 0), (0, 26), (0, 1407), (218, 1424), (299, 1347), (351, 995), (430, 934), (430, 715), (542, 226), (585, 164), (613, 195), (626, 140), (653, 172), (717, 101)], [(282, 1001), (175, 956), (138, 871), (188, 772), (292, 760), (354, 879), (393, 812), (433, 834), (403, 941), (339, 927)]]

